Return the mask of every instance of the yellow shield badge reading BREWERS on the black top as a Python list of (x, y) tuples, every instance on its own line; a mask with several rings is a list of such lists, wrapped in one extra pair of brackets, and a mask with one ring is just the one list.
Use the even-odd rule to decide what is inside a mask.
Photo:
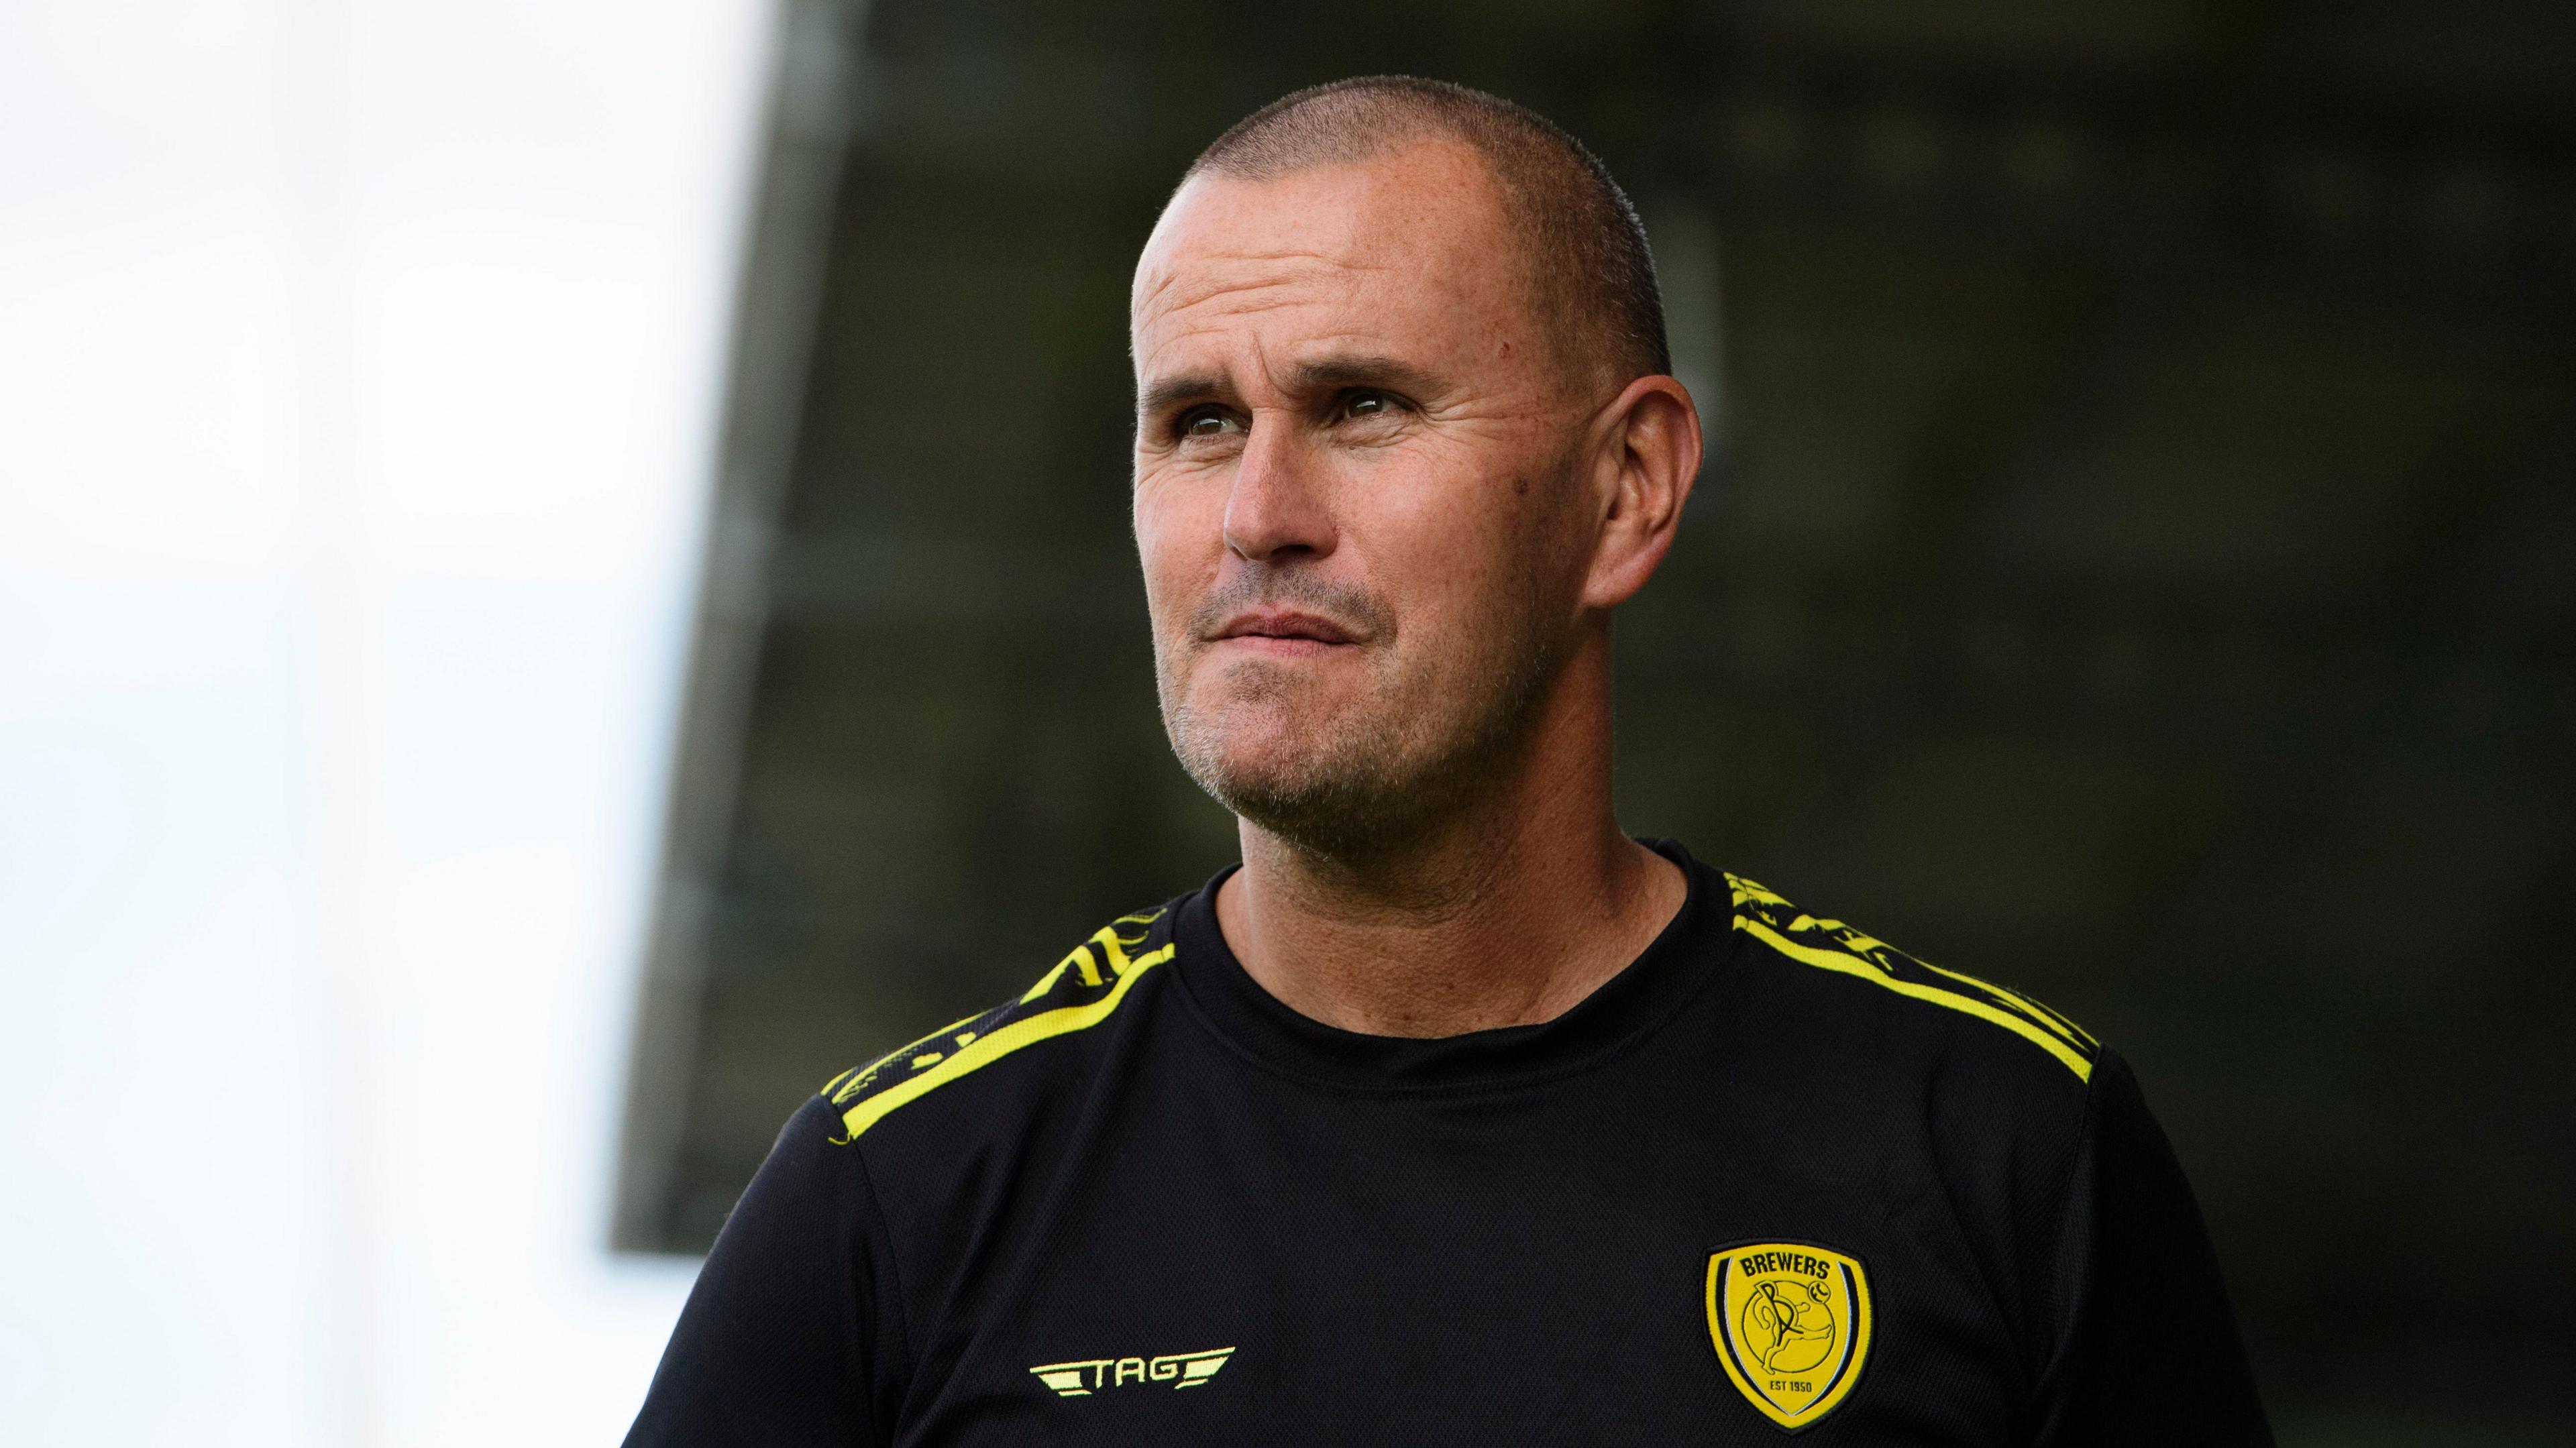
[(1754, 1409), (1790, 1433), (1834, 1412), (1870, 1360), (1870, 1273), (1814, 1242), (1708, 1255), (1708, 1337)]

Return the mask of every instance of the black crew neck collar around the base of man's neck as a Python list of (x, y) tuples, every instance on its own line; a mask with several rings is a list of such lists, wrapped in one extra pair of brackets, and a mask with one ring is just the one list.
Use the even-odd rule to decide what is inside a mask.
[(1172, 922), (1172, 971), (1198, 1015), (1236, 1051), (1285, 1074), (1358, 1090), (1443, 1090), (1512, 1085), (1569, 1074), (1615, 1056), (1662, 1025), (1713, 974), (1713, 930), (1726, 928), (1723, 881), (1674, 840), (1641, 840), (1682, 866), (1685, 897), (1638, 958), (1553, 1020), (1502, 1025), (1463, 1036), (1368, 1036), (1342, 1031), (1278, 1000), (1244, 971), (1216, 925), (1216, 889), (1242, 866), (1226, 866), (1180, 902)]

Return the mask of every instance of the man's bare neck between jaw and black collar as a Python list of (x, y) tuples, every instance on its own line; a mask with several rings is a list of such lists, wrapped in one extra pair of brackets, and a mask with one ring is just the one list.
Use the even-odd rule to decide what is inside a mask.
[(1577, 649), (1528, 747), (1399, 843), (1327, 855), (1242, 822), (1216, 920), (1288, 1007), (1370, 1036), (1553, 1020), (1682, 907), (1682, 871), (1618, 830), (1607, 636)]

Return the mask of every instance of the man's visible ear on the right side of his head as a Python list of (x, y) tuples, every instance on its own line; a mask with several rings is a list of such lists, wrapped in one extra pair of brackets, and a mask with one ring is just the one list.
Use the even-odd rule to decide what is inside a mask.
[(1641, 376), (1600, 412), (1595, 428), (1602, 513), (1584, 608), (1618, 608), (1672, 551), (1682, 502), (1700, 477), (1700, 410), (1680, 381)]

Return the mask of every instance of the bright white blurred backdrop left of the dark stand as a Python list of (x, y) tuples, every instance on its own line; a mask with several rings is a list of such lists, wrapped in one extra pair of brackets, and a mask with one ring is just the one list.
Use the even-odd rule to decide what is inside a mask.
[(0, 0), (0, 1443), (600, 1443), (757, 0)]

